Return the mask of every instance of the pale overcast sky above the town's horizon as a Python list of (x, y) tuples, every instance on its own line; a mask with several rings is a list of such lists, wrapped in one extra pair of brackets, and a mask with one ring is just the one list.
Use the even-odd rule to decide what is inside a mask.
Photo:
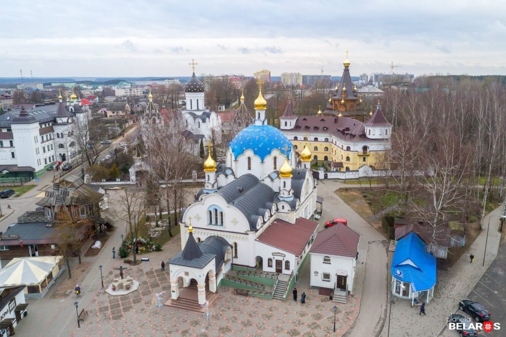
[(506, 73), (506, 1), (9, 1), (0, 77)]

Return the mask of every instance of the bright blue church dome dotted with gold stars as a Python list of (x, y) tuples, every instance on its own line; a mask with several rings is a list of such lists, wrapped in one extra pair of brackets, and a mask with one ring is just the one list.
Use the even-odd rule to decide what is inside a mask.
[(288, 147), (286, 155), (290, 157), (291, 142), (283, 132), (270, 125), (250, 125), (239, 132), (229, 144), (234, 157), (237, 159), (245, 150), (252, 150), (264, 161), (273, 149), (278, 149), (284, 154), (285, 146)]

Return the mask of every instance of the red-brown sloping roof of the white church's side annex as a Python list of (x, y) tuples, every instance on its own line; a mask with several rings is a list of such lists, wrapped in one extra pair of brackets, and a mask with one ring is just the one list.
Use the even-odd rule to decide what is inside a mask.
[(277, 219), (260, 234), (257, 240), (300, 256), (317, 227), (318, 222), (305, 218), (297, 219), (294, 224)]

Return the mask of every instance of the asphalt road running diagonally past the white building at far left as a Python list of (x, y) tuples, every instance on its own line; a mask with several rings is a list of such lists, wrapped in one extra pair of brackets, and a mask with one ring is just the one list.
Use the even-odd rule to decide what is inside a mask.
[[(119, 148), (120, 143), (126, 143), (135, 139), (135, 137), (137, 137), (139, 132), (140, 132), (139, 124), (134, 124), (134, 127), (130, 129), (128, 132), (126, 132), (124, 137), (114, 139), (111, 143), (111, 146), (105, 151), (103, 151), (99, 155), (98, 159), (99, 160), (103, 159), (104, 156), (110, 153), (113, 149)], [(88, 165), (85, 163), (85, 169), (87, 166)], [(41, 191), (45, 190), (52, 183), (55, 173), (56, 172), (53, 171), (47, 171), (43, 175), (39, 176), (38, 182), (36, 182), (35, 180), (27, 182), (26, 184), (37, 185), (37, 187), (26, 192), (19, 198), (13, 196), (8, 199), (0, 199), (0, 207), (2, 207), (2, 212), (4, 214), (9, 214), (8, 216), (5, 216), (0, 220), (0, 231), (5, 232), (7, 230), (7, 227), (11, 223), (16, 222), (18, 217), (21, 216), (26, 211), (35, 210), (36, 207), (35, 203), (38, 200), (40, 200), (40, 198), (44, 197), (44, 194)], [(81, 176), (81, 167), (77, 166), (73, 168), (71, 171), (58, 171), (58, 173)], [(8, 205), (11, 206), (11, 209), (8, 208)]]

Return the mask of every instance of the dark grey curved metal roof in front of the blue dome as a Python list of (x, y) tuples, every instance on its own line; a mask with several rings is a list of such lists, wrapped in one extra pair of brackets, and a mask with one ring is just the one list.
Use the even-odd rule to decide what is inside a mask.
[(259, 216), (264, 216), (267, 203), (272, 203), (276, 196), (271, 187), (252, 174), (240, 176), (216, 193), (244, 214), (251, 230), (257, 230)]

